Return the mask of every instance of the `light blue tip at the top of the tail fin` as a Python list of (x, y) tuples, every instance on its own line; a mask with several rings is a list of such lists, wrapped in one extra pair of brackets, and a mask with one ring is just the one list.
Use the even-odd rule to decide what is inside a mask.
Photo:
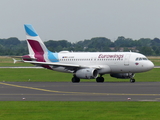
[(32, 37), (38, 36), (37, 32), (34, 30), (31, 24), (25, 24), (24, 28), (26, 30), (26, 33)]

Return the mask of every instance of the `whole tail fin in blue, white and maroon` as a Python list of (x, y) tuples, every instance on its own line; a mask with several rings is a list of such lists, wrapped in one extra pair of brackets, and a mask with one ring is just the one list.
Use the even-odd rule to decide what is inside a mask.
[(29, 56), (31, 58), (35, 58), (36, 61), (39, 62), (58, 62), (57, 53), (52, 53), (46, 48), (43, 41), (41, 40), (37, 32), (34, 30), (32, 25), (25, 24), (24, 28), (26, 31)]

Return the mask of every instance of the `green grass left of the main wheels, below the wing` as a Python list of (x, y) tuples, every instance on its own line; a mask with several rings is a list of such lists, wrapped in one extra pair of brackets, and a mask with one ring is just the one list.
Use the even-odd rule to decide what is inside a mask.
[(6, 82), (65, 82), (70, 81), (72, 74), (32, 68), (1, 68), (0, 81)]

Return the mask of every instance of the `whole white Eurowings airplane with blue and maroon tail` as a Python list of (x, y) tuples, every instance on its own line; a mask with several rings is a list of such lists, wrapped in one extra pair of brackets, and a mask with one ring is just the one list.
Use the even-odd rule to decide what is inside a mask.
[(51, 52), (33, 26), (24, 24), (29, 54), (22, 56), (25, 63), (35, 64), (50, 70), (72, 73), (73, 83), (80, 79), (96, 79), (104, 82), (105, 74), (135, 82), (135, 73), (146, 72), (154, 64), (143, 54), (136, 52)]

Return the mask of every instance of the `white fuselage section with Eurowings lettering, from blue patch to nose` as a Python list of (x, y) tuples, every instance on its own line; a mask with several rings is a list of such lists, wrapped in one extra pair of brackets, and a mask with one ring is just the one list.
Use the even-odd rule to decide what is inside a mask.
[[(140, 53), (134, 52), (60, 52), (58, 62), (76, 64), (84, 68), (99, 69), (100, 74), (139, 73), (151, 70), (154, 65)], [(52, 68), (56, 71), (71, 72), (65, 67)]]

